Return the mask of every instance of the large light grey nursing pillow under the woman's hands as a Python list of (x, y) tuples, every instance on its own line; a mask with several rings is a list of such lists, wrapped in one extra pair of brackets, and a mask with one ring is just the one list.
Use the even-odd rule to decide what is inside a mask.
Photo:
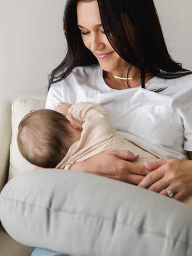
[(19, 243), (70, 256), (191, 256), (192, 208), (88, 173), (39, 169), (0, 194), (0, 219)]

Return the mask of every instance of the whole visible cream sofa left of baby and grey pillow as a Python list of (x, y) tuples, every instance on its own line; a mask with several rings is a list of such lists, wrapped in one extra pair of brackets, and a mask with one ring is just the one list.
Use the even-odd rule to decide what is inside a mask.
[[(24, 103), (24, 101), (22, 102)], [(37, 104), (37, 107), (41, 105), (40, 107), (43, 108), (45, 96), (35, 96), (32, 101), (33, 103), (35, 101), (42, 101), (41, 104)], [(20, 157), (18, 148), (16, 147), (16, 137), (14, 136), (18, 121), (23, 113), (28, 111), (27, 106), (31, 108), (30, 102), (29, 99), (29, 101), (27, 100), (27, 104), (20, 105), (20, 100), (18, 100), (13, 103), (12, 107), (11, 102), (0, 100), (0, 191), (11, 178), (20, 174), (22, 171), (33, 169), (25, 160), (23, 162), (23, 159)], [(26, 108), (24, 105), (26, 105)], [(22, 106), (22, 109), (20, 109), (20, 106)], [(14, 112), (14, 109), (17, 109), (17, 113)], [(14, 124), (13, 130), (12, 122)], [(3, 208), (0, 209), (0, 212), (2, 211), (4, 211)], [(28, 247), (16, 242), (7, 234), (2, 226), (0, 227), (0, 256), (29, 256), (33, 249), (33, 247)]]

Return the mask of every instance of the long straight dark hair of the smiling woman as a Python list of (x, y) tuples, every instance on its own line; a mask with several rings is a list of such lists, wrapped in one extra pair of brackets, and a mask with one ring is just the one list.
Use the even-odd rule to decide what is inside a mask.
[[(92, 52), (85, 47), (77, 27), (77, 1), (66, 2), (63, 27), (68, 47), (67, 54), (50, 74), (48, 88), (51, 84), (65, 79), (74, 67), (99, 63)], [(146, 70), (166, 79), (192, 74), (169, 55), (153, 0), (97, 0), (97, 2), (102, 26), (109, 43), (123, 60), (139, 68), (142, 88), (145, 88)], [(132, 28), (135, 33), (133, 41)]]

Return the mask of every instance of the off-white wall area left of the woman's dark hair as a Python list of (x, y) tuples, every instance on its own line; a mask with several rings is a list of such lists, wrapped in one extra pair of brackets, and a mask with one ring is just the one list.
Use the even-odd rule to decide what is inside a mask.
[(0, 97), (46, 94), (64, 57), (66, 0), (0, 0)]

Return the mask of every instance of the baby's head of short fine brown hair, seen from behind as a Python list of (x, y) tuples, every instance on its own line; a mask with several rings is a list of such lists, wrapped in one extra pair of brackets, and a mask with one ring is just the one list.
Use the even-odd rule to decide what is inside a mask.
[(65, 115), (40, 109), (25, 115), (20, 121), (17, 143), (28, 162), (43, 168), (55, 168), (65, 157), (72, 136)]

